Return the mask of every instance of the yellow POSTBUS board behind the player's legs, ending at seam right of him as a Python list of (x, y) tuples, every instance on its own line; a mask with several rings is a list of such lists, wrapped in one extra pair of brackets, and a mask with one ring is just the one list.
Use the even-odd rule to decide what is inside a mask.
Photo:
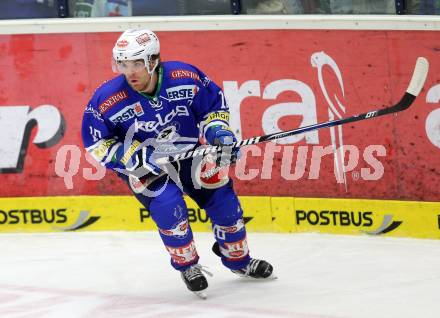
[[(194, 231), (211, 231), (205, 212), (188, 197)], [(247, 228), (272, 230), (269, 197), (240, 198)], [(155, 230), (150, 213), (132, 196), (0, 198), (0, 232)]]

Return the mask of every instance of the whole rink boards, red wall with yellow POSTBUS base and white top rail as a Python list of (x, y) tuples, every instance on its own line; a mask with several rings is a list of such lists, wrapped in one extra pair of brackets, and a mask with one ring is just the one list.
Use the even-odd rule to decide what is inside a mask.
[[(0, 233), (155, 229), (148, 211), (87, 157), (80, 140), (88, 99), (114, 76), (104, 56), (121, 30), (143, 26), (158, 32), (164, 59), (193, 63), (222, 87), (239, 139), (392, 105), (417, 57), (426, 57), (431, 70), (410, 109), (243, 148), (231, 177), (251, 232), (438, 239), (439, 19), (3, 21)], [(17, 87), (27, 87), (26, 94)], [(335, 149), (346, 150), (347, 166)], [(210, 231), (206, 213), (192, 202), (188, 207), (192, 228)]]

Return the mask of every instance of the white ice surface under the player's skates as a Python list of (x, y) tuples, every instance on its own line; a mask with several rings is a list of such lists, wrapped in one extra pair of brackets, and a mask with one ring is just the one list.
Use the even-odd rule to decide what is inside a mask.
[(208, 299), (153, 232), (0, 235), (1, 318), (439, 318), (440, 241), (248, 233), (278, 279), (236, 277), (195, 233)]

